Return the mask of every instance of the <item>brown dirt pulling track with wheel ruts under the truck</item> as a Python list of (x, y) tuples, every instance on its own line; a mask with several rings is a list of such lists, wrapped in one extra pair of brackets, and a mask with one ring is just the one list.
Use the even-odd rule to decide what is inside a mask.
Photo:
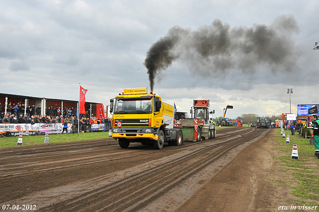
[(259, 179), (272, 164), (262, 147), (271, 131), (223, 128), (215, 139), (162, 150), (122, 149), (113, 139), (1, 150), (0, 203), (36, 211), (267, 211), (274, 189), (263, 194)]

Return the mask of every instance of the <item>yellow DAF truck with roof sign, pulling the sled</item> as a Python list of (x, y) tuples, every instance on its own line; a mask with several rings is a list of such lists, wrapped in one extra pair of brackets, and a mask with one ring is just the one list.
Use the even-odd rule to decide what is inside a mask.
[(110, 103), (112, 137), (120, 147), (128, 148), (136, 142), (153, 144), (156, 149), (164, 144), (182, 145), (181, 127), (174, 127), (174, 107), (152, 91), (149, 94), (148, 88), (124, 89)]

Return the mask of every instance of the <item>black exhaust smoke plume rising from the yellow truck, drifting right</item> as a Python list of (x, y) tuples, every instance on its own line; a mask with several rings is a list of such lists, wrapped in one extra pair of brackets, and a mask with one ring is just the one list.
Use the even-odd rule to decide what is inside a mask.
[(279, 16), (268, 26), (254, 24), (231, 28), (219, 19), (197, 30), (174, 26), (147, 52), (144, 65), (148, 69), (151, 90), (160, 71), (177, 58), (202, 77), (212, 73), (226, 75), (231, 70), (252, 74), (264, 65), (272, 72), (291, 71), (296, 63), (292, 39), (296, 32), (298, 24), (292, 15)]

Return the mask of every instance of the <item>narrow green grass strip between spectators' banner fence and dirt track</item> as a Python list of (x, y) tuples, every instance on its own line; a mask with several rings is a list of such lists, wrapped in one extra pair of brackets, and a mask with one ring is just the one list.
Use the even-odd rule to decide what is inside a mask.
[[(21, 147), (17, 145), (18, 136), (1, 137), (0, 148)], [(23, 136), (22, 145), (38, 145), (44, 144), (45, 135)], [(49, 143), (65, 143), (74, 141), (102, 140), (109, 138), (109, 132), (79, 133), (79, 134), (51, 134), (49, 135)]]

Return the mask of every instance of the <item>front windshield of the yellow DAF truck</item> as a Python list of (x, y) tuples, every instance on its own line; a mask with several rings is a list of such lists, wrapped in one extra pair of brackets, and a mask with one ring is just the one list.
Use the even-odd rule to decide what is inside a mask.
[(139, 114), (152, 113), (152, 98), (116, 99), (114, 105), (114, 114)]

